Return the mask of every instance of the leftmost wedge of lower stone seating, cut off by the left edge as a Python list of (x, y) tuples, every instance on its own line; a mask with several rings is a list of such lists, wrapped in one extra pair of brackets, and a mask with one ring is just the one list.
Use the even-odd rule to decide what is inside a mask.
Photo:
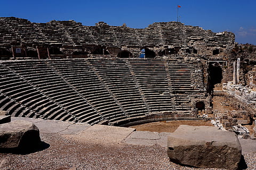
[[(2, 68), (4, 65), (2, 65)], [(1, 70), (1, 93), (10, 101), (2, 106), (10, 115), (21, 117), (41, 117), (63, 121), (73, 121), (74, 118), (60, 107), (45, 98), (37, 89), (24, 81), (10, 69)], [(1, 104), (4, 104), (3, 100)], [(24, 107), (23, 107), (24, 106)], [(54, 111), (58, 111), (55, 112)]]

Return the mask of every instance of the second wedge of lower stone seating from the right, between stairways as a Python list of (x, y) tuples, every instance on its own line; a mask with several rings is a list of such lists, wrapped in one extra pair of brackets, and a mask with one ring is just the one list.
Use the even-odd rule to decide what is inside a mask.
[(172, 100), (163, 60), (129, 60), (152, 112), (171, 111)]

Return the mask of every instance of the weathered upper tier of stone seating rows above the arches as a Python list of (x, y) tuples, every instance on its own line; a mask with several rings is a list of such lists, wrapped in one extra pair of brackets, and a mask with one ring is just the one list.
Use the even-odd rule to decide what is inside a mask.
[(214, 33), (180, 22), (156, 22), (145, 29), (133, 29), (126, 25), (110, 26), (105, 22), (99, 22), (95, 26), (84, 26), (72, 20), (31, 23), (26, 19), (5, 17), (0, 18), (0, 30), (3, 35), (0, 44), (1, 41), (15, 43), (18, 40), (19, 45), (23, 43), (27, 47), (35, 47), (38, 44), (57, 44), (58, 47), (71, 45), (75, 48), (87, 45), (188, 47), (194, 41), (216, 47), (234, 45), (233, 33)]

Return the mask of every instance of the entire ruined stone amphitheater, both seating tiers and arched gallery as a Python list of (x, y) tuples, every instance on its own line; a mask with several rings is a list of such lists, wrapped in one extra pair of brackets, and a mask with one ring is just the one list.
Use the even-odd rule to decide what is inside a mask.
[(250, 84), (234, 42), (234, 33), (180, 22), (134, 29), (0, 18), (0, 110), (109, 125), (195, 119), (213, 112), (216, 85)]

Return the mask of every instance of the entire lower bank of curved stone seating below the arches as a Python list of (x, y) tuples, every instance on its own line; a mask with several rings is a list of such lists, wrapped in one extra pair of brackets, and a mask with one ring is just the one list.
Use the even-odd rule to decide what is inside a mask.
[(202, 64), (81, 59), (1, 61), (0, 110), (12, 116), (122, 125), (195, 117)]

